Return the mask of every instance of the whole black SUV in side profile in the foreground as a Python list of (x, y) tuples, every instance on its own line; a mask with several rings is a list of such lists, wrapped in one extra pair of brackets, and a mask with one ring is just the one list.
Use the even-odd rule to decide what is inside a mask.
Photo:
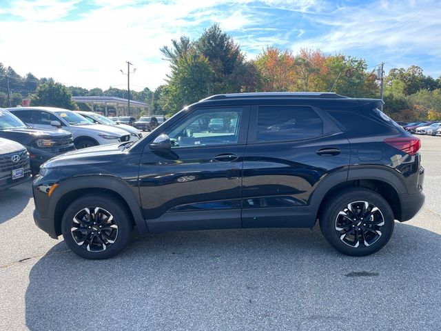
[(121, 251), (134, 225), (146, 233), (317, 220), (340, 252), (371, 254), (394, 219), (411, 219), (424, 203), (420, 140), (381, 105), (334, 93), (215, 95), (135, 143), (43, 164), (34, 219), (88, 259)]

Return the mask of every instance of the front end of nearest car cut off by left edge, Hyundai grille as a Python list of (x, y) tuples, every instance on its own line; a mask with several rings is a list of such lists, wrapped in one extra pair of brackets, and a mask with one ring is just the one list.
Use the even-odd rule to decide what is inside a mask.
[(30, 174), (26, 148), (15, 141), (0, 138), (0, 190), (28, 181)]

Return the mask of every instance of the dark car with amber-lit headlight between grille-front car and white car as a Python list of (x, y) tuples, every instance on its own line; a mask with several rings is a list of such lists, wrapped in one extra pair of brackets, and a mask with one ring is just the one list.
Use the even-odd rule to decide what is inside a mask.
[(0, 109), (0, 137), (25, 146), (30, 154), (30, 168), (34, 174), (39, 172), (40, 165), (48, 159), (75, 149), (70, 132), (29, 128), (14, 114), (3, 109)]

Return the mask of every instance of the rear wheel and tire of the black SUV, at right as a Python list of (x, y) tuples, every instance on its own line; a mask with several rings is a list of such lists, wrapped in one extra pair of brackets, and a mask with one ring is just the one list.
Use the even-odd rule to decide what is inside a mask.
[(320, 210), (319, 219), (325, 239), (353, 257), (378, 252), (391, 239), (395, 223), (389, 203), (367, 188), (347, 188), (333, 194)]

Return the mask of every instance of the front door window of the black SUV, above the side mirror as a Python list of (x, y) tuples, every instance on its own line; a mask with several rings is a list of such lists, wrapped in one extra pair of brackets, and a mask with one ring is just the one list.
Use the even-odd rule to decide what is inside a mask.
[(196, 110), (167, 134), (173, 147), (237, 143), (241, 115), (242, 108)]

